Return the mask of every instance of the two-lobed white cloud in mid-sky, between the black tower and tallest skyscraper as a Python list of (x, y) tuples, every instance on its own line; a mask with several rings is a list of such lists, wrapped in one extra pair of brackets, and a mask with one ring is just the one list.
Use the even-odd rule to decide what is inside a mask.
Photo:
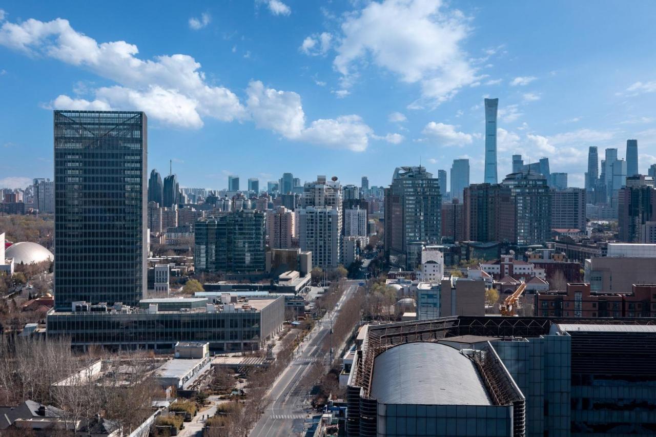
[(277, 91), (264, 87), (260, 81), (251, 81), (247, 94), (247, 108), (256, 126), (272, 129), (291, 140), (362, 152), (369, 137), (373, 137), (371, 127), (358, 115), (318, 119), (306, 127), (300, 96), (293, 91)]

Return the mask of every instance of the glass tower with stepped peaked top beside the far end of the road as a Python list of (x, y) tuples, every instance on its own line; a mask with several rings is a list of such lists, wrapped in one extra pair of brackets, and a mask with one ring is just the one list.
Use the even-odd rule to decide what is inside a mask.
[(415, 268), (411, 243), (441, 242), (440, 182), (425, 167), (397, 167), (385, 188), (385, 251), (390, 263)]

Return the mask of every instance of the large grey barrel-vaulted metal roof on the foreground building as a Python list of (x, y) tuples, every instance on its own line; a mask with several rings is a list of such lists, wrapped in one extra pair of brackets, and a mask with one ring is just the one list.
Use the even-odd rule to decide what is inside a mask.
[(371, 397), (380, 404), (492, 405), (474, 363), (439, 343), (405, 343), (376, 357)]

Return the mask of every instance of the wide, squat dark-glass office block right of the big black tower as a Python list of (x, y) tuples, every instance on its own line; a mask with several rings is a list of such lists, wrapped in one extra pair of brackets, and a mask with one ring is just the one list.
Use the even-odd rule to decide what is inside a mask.
[(198, 220), (194, 264), (201, 272), (249, 273), (265, 268), (264, 213), (247, 209)]

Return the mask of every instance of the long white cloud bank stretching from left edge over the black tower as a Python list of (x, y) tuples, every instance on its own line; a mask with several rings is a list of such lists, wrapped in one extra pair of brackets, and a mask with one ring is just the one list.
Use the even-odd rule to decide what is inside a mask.
[[(0, 45), (91, 70), (119, 85), (97, 89), (96, 100), (110, 106), (112, 100), (130, 102), (131, 109), (150, 110), (154, 119), (165, 123), (201, 127), (201, 118), (206, 116), (221, 121), (248, 117), (239, 98), (227, 88), (207, 83), (201, 64), (186, 54), (142, 60), (136, 56), (136, 45), (125, 41), (97, 43), (73, 30), (62, 18), (5, 22), (0, 28)], [(61, 102), (61, 96), (58, 98)], [(172, 104), (159, 106), (163, 102)]]

